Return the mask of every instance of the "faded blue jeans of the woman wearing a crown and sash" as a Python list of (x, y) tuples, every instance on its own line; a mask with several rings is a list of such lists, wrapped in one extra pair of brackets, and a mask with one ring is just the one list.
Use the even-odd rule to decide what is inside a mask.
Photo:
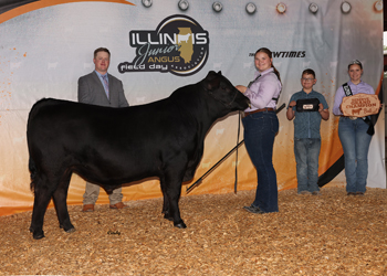
[(347, 192), (365, 192), (368, 176), (368, 149), (372, 136), (367, 134), (368, 125), (362, 119), (341, 117), (338, 137), (342, 141), (345, 161)]

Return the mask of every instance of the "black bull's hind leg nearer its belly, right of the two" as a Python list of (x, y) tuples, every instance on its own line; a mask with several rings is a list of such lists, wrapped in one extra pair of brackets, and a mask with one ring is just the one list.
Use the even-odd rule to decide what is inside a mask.
[(67, 233), (72, 233), (75, 231), (73, 224), (71, 224), (70, 215), (67, 211), (67, 192), (71, 180), (71, 172), (64, 173), (63, 179), (61, 180), (59, 187), (53, 193), (52, 198), (54, 200), (56, 215), (59, 220), (59, 225)]

